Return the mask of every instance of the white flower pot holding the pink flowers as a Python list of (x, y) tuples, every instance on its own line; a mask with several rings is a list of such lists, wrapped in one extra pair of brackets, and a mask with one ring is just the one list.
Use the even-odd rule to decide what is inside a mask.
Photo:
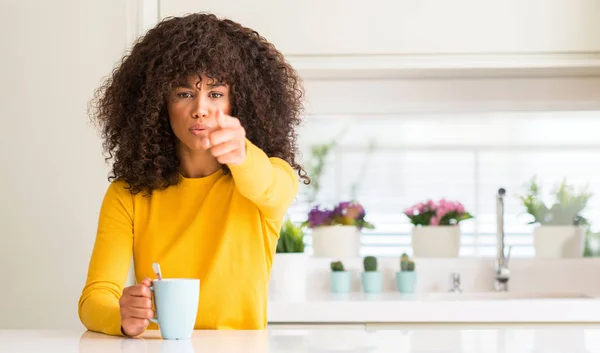
[(458, 257), (459, 226), (418, 226), (412, 230), (414, 257)]

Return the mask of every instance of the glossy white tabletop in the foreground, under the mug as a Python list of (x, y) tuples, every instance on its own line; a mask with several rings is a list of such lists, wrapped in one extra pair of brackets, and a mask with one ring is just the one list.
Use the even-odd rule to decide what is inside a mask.
[(123, 338), (80, 331), (0, 330), (2, 353), (530, 353), (600, 351), (600, 326), (439, 328), (399, 330), (196, 331), (191, 340), (165, 341), (158, 331)]

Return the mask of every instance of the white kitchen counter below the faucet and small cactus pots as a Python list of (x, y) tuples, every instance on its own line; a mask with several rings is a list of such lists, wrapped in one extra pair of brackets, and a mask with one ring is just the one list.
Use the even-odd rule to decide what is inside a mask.
[[(535, 294), (313, 294), (269, 300), (270, 323), (600, 323), (600, 299)], [(545, 294), (544, 294), (545, 295)], [(458, 300), (456, 300), (458, 299)]]

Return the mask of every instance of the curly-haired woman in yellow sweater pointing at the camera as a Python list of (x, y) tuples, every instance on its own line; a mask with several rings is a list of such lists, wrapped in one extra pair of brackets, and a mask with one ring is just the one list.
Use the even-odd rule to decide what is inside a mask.
[[(255, 31), (214, 15), (170, 18), (97, 91), (114, 158), (79, 317), (136, 336), (154, 316), (152, 263), (199, 278), (196, 329), (264, 329), (283, 217), (297, 195), (302, 91)], [(133, 253), (137, 283), (124, 288)], [(154, 325), (154, 324), (152, 324)]]

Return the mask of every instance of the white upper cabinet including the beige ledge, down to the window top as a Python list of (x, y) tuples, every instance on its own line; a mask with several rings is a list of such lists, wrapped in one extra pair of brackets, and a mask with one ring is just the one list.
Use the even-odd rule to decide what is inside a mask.
[(211, 12), (255, 29), (298, 70), (310, 114), (600, 104), (600, 0), (143, 4), (154, 18)]

